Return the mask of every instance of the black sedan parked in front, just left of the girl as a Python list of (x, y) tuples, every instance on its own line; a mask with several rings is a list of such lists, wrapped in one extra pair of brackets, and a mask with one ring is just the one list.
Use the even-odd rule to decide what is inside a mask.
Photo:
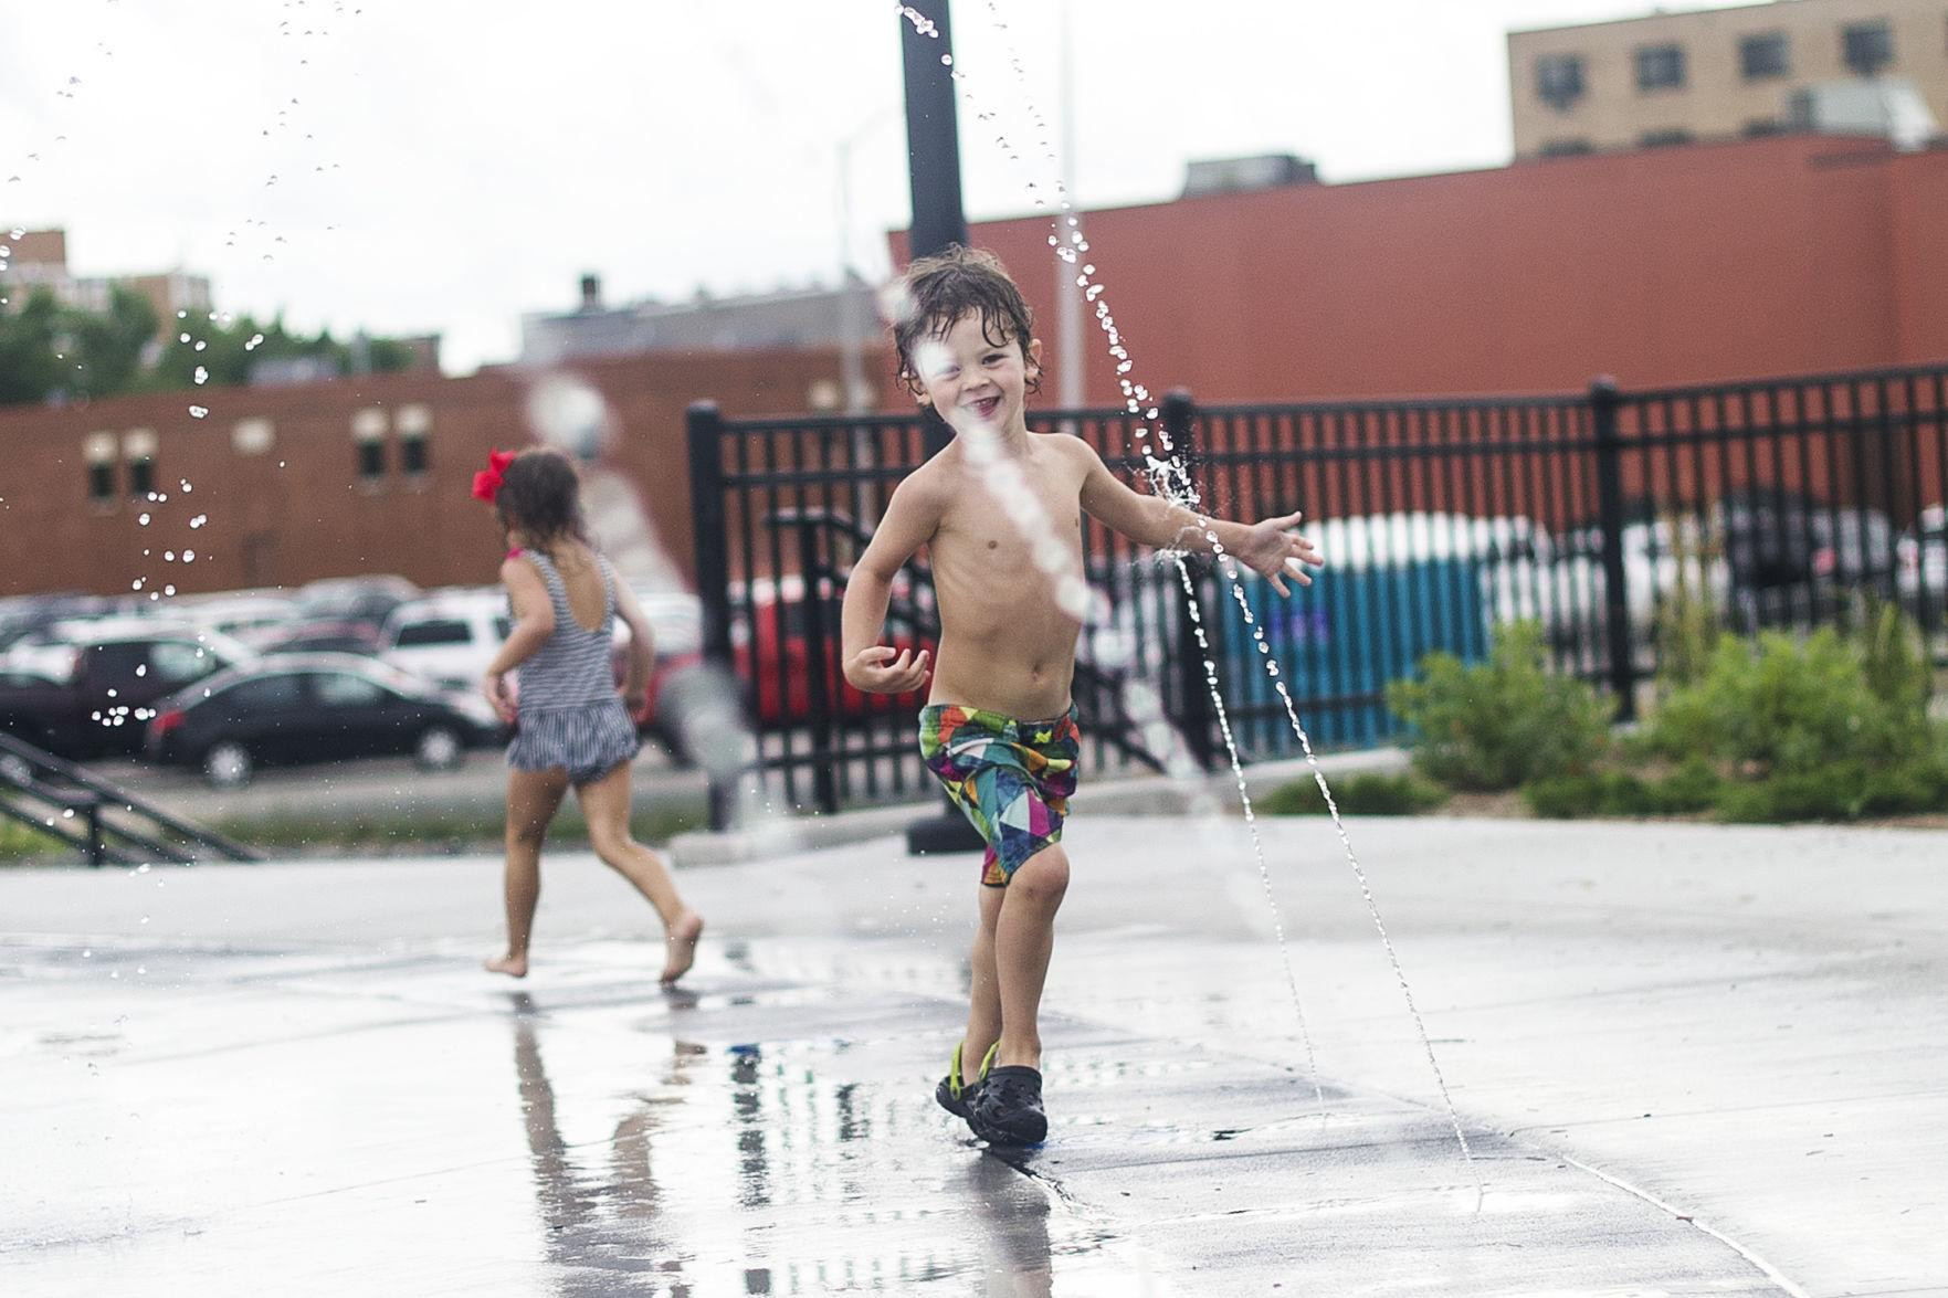
[(473, 692), (440, 690), (339, 653), (263, 659), (162, 700), (148, 723), (152, 758), (201, 768), (218, 787), (263, 766), (411, 754), (448, 770), (505, 729)]

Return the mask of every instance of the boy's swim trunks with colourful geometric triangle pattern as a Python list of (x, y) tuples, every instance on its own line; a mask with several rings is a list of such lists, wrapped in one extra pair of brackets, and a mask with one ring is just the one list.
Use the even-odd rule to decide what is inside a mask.
[(919, 711), (919, 756), (988, 840), (980, 881), (1001, 889), (1021, 863), (1062, 840), (1075, 793), (1075, 707), (1052, 721), (941, 704)]

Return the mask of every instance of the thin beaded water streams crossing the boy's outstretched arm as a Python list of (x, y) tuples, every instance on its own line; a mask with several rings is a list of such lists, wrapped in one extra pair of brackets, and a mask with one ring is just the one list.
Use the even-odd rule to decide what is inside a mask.
[[(1013, 41), (1005, 35), (1007, 33), (1007, 23), (1001, 19), (1001, 14), (999, 14), (997, 6), (995, 6), (995, 0), (986, 0), (986, 8), (988, 8), (990, 21), (995, 25), (997, 31), (1003, 33), (1003, 43), (1007, 45), (1009, 62), (1013, 64), (1017, 86), (1021, 88), (1023, 97), (1030, 103), (1030, 111), (1032, 111), (1032, 99), (1029, 99), (1029, 95), (1027, 95), (1027, 74), (1023, 70), (1021, 57), (1015, 53)], [(906, 14), (910, 21), (916, 23), (916, 29), (919, 29), (921, 35), (935, 35), (937, 37), (937, 29), (933, 27), (933, 23), (927, 21), (921, 14), (918, 14), (912, 6), (904, 6), (902, 4), (900, 12)], [(960, 82), (962, 86), (966, 86), (966, 76), (964, 76), (964, 72), (960, 68), (953, 68), (953, 76), (955, 76), (956, 82)], [(986, 113), (982, 113), (980, 117), (982, 117), (982, 121), (992, 119), (992, 115), (986, 115)], [(1048, 150), (1046, 123), (1042, 121), (1040, 113), (1032, 113), (1032, 121), (1044, 133), (1044, 138), (1040, 140), (1040, 144), (1044, 146), (1044, 152), (1048, 152), (1050, 162), (1054, 162), (1054, 154)], [(1030, 183), (1030, 189), (1034, 189), (1032, 183)], [(1068, 214), (1066, 220), (1068, 220), (1068, 226), (1069, 226), (1069, 238), (1068, 238), (1068, 242), (1064, 242), (1064, 238), (1062, 238), (1062, 232), (1064, 232), (1062, 230), (1062, 220), (1064, 220), (1064, 216), (1058, 214), (1056, 222), (1054, 222), (1054, 232), (1050, 234), (1048, 242), (1056, 249), (1056, 255), (1064, 263), (1077, 265), (1079, 263), (1079, 253), (1083, 253), (1083, 251), (1089, 249), (1089, 242), (1083, 238), (1081, 228), (1079, 228), (1079, 220), (1071, 212), (1073, 203), (1069, 201), (1068, 187), (1062, 183), (1060, 173), (1058, 173), (1058, 179), (1056, 179), (1056, 193), (1060, 195), (1060, 210), (1064, 214)], [(1044, 207), (1046, 205), (1044, 199), (1040, 199), (1040, 197), (1036, 197), (1034, 203), (1036, 203), (1036, 207)], [(1132, 415), (1142, 413), (1145, 419), (1155, 421), (1157, 419), (1157, 409), (1155, 407), (1143, 409), (1143, 401), (1147, 401), (1147, 398), (1149, 398), (1147, 390), (1143, 390), (1142, 384), (1138, 384), (1132, 378), (1128, 378), (1128, 374), (1134, 368), (1134, 363), (1130, 361), (1128, 349), (1122, 345), (1122, 335), (1120, 335), (1120, 331), (1114, 325), (1114, 316), (1110, 316), (1108, 302), (1103, 300), (1105, 288), (1103, 288), (1103, 285), (1093, 283), (1093, 277), (1095, 277), (1095, 267), (1083, 263), (1081, 269), (1079, 269), (1079, 273), (1077, 273), (1077, 277), (1075, 277), (1075, 286), (1077, 286), (1077, 290), (1085, 292), (1087, 300), (1095, 302), (1097, 324), (1105, 331), (1105, 335), (1108, 337), (1110, 357), (1116, 359), (1116, 374), (1118, 374), (1118, 382), (1122, 384), (1122, 390), (1124, 390), (1126, 407), (1128, 407), (1128, 411)], [(1147, 425), (1140, 425), (1136, 429), (1138, 440), (1145, 440), (1147, 433), (1149, 433)], [(1475, 1165), (1475, 1152), (1469, 1148), (1467, 1132), (1461, 1128), (1461, 1115), (1457, 1113), (1453, 1097), (1447, 1091), (1447, 1078), (1442, 1072), (1440, 1058), (1434, 1052), (1434, 1041), (1428, 1037), (1426, 1021), (1420, 1017), (1420, 1010), (1414, 1004), (1414, 992), (1412, 992), (1412, 986), (1406, 980), (1406, 971), (1401, 965), (1401, 957), (1399, 957), (1399, 951), (1393, 945), (1393, 937), (1387, 934), (1387, 926), (1385, 926), (1385, 922), (1383, 922), (1383, 918), (1379, 914), (1379, 902), (1373, 897), (1373, 889), (1371, 889), (1371, 883), (1366, 877), (1366, 869), (1360, 865), (1360, 858), (1354, 852), (1352, 836), (1346, 832), (1346, 822), (1340, 817), (1338, 803), (1332, 797), (1330, 785), (1327, 783), (1325, 770), (1321, 770), (1319, 758), (1313, 752), (1311, 737), (1305, 733), (1305, 725), (1299, 721), (1297, 707), (1295, 707), (1295, 704), (1292, 700), (1292, 692), (1286, 688), (1282, 672), (1278, 670), (1278, 663), (1272, 657), (1270, 645), (1264, 639), (1264, 630), (1262, 630), (1262, 626), (1258, 624), (1258, 620), (1251, 612), (1251, 602), (1247, 600), (1243, 583), (1237, 577), (1235, 561), (1231, 559), (1231, 555), (1225, 554), (1223, 544), (1218, 540), (1216, 530), (1210, 528), (1210, 520), (1198, 509), (1198, 505), (1202, 503), (1200, 495), (1198, 495), (1194, 483), (1190, 481), (1188, 468), (1184, 466), (1184, 462), (1179, 456), (1177, 448), (1171, 444), (1171, 437), (1169, 437), (1169, 433), (1163, 427), (1157, 429), (1157, 442), (1163, 448), (1163, 456), (1153, 456), (1149, 452), (1145, 452), (1145, 456), (1143, 456), (1143, 460), (1145, 460), (1145, 472), (1147, 472), (1147, 477), (1151, 481), (1151, 487), (1159, 495), (1163, 495), (1165, 499), (1169, 499), (1171, 503), (1180, 505), (1180, 507), (1192, 511), (1194, 515), (1198, 515), (1198, 524), (1204, 528), (1204, 538), (1210, 542), (1212, 552), (1218, 557), (1218, 567), (1223, 573), (1225, 581), (1229, 583), (1233, 598), (1237, 600), (1239, 608), (1243, 610), (1245, 624), (1251, 628), (1253, 639), (1255, 639), (1255, 643), (1258, 647), (1258, 657), (1264, 661), (1264, 668), (1266, 668), (1268, 676), (1272, 678), (1272, 688), (1278, 692), (1280, 702), (1284, 704), (1286, 719), (1292, 723), (1292, 731), (1293, 731), (1293, 735), (1299, 741), (1299, 748), (1305, 752), (1305, 762), (1307, 762), (1307, 766), (1311, 770), (1313, 782), (1319, 785), (1319, 791), (1321, 791), (1321, 795), (1327, 801), (1327, 811), (1332, 817), (1332, 828), (1338, 834), (1340, 844), (1346, 850), (1346, 861), (1348, 861), (1348, 865), (1352, 865), (1354, 879), (1360, 885), (1360, 895), (1366, 900), (1367, 914), (1371, 916), (1373, 928), (1379, 934), (1379, 941), (1381, 941), (1381, 945), (1387, 951), (1387, 961), (1393, 967), (1395, 980), (1401, 984), (1401, 994), (1406, 1000), (1406, 1012), (1414, 1019), (1414, 1029), (1420, 1035), (1420, 1045), (1426, 1050), (1428, 1066), (1434, 1072), (1436, 1088), (1440, 1089), (1442, 1103), (1447, 1109), (1447, 1121), (1453, 1126), (1455, 1142), (1461, 1146), (1461, 1158), (1473, 1169), (1473, 1165)], [(1253, 852), (1256, 854), (1256, 861), (1258, 861), (1258, 873), (1260, 873), (1260, 877), (1264, 881), (1266, 898), (1272, 904), (1272, 922), (1274, 922), (1274, 930), (1278, 934), (1280, 955), (1286, 961), (1286, 978), (1288, 978), (1288, 984), (1292, 988), (1293, 1010), (1297, 1012), (1297, 1017), (1299, 1017), (1299, 1031), (1305, 1037), (1307, 1064), (1311, 1066), (1311, 1056), (1313, 1056), (1311, 1035), (1305, 1029), (1305, 1012), (1303, 1012), (1303, 1006), (1299, 1002), (1297, 980), (1292, 974), (1292, 961), (1290, 961), (1290, 953), (1286, 949), (1284, 924), (1280, 920), (1278, 900), (1276, 900), (1276, 897), (1272, 893), (1270, 867), (1266, 865), (1264, 846), (1262, 846), (1262, 840), (1258, 836), (1256, 821), (1253, 819), (1253, 813), (1251, 813), (1251, 791), (1249, 791), (1249, 785), (1247, 785), (1247, 780), (1245, 780), (1243, 766), (1241, 766), (1241, 762), (1237, 758), (1237, 746), (1235, 746), (1233, 737), (1231, 737), (1231, 727), (1229, 727), (1227, 713), (1223, 709), (1223, 700), (1219, 698), (1218, 668), (1216, 668), (1216, 663), (1210, 659), (1210, 643), (1206, 639), (1202, 614), (1198, 610), (1196, 587), (1190, 581), (1190, 571), (1184, 565), (1182, 555), (1177, 554), (1177, 555), (1171, 555), (1171, 557), (1177, 563), (1179, 577), (1180, 577), (1180, 581), (1184, 585), (1186, 598), (1190, 600), (1188, 606), (1190, 606), (1192, 626), (1196, 628), (1198, 647), (1204, 653), (1206, 682), (1212, 686), (1212, 702), (1218, 706), (1219, 733), (1223, 735), (1225, 750), (1227, 750), (1227, 754), (1231, 758), (1231, 772), (1233, 772), (1233, 778), (1237, 780), (1239, 801), (1243, 803), (1243, 809), (1245, 809), (1245, 821), (1251, 826), (1251, 840), (1253, 840)], [(1313, 1086), (1315, 1086), (1315, 1091), (1317, 1091), (1317, 1088), (1319, 1088), (1317, 1068), (1313, 1068)], [(1477, 1189), (1480, 1189), (1479, 1179), (1477, 1179)]]

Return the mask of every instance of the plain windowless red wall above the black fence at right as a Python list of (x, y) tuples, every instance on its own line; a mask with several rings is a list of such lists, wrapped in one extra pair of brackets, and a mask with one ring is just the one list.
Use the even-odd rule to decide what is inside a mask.
[[(1134, 378), (1200, 400), (1576, 392), (1948, 359), (1948, 150), (1779, 136), (1091, 212)], [(1048, 220), (986, 222), (1050, 364)], [(904, 259), (904, 238), (894, 238)], [(1085, 324), (1091, 401), (1118, 401)], [(1050, 392), (1044, 388), (1044, 392)]]

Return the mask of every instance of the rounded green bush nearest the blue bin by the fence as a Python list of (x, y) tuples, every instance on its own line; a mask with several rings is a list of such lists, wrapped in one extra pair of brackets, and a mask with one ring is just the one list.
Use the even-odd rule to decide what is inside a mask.
[(1609, 706), (1582, 680), (1549, 670), (1543, 628), (1500, 628), (1486, 663), (1447, 653), (1420, 661), (1420, 680), (1387, 686), (1414, 735), (1414, 766), (1453, 789), (1514, 789), (1582, 774), (1603, 756)]

